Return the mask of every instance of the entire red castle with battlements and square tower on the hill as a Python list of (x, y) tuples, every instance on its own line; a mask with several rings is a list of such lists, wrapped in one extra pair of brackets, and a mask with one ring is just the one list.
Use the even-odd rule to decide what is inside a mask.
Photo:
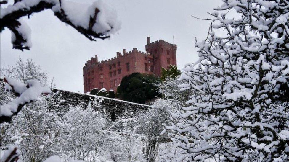
[(145, 50), (146, 53), (137, 48), (129, 52), (123, 49), (123, 55), (117, 52), (116, 57), (101, 62), (98, 62), (95, 55), (83, 67), (84, 93), (94, 88), (112, 89), (116, 92), (124, 76), (136, 72), (160, 76), (162, 67), (176, 65), (175, 44), (163, 40), (150, 43), (150, 37), (147, 37)]

